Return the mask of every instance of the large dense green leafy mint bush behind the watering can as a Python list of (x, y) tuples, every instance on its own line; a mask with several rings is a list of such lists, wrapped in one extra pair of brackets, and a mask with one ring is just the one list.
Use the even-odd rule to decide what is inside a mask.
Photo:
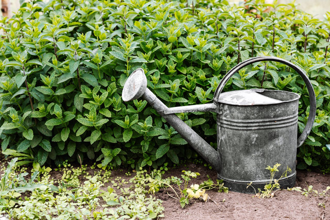
[[(314, 84), (317, 115), (298, 150), (298, 168), (329, 165), (330, 14), (324, 21), (294, 4), (247, 1), (69, 1), (23, 3), (0, 20), (1, 147), (41, 165), (67, 157), (102, 166), (157, 167), (196, 153), (146, 101), (123, 103), (125, 79), (142, 67), (148, 87), (167, 106), (212, 101), (219, 80), (249, 57), (274, 55)], [(309, 113), (303, 80), (279, 63), (256, 63), (226, 91), (271, 88), (302, 95), (299, 130)], [(307, 110), (306, 110), (307, 109)], [(215, 115), (181, 113), (215, 147)], [(327, 170), (329, 172), (329, 170)]]

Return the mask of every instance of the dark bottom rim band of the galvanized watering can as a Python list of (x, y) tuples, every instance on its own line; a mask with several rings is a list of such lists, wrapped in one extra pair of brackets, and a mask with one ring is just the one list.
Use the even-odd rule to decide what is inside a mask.
[[(289, 188), (294, 187), (294, 185), (296, 183), (296, 176), (297, 176), (297, 173), (294, 172), (294, 173), (291, 173), (290, 175), (288, 175), (288, 178), (284, 177), (283, 179), (281, 179), (279, 181), (280, 188), (287, 189), (288, 187)], [(223, 180), (224, 186), (228, 187), (229, 191), (238, 192), (238, 193), (246, 193), (246, 194), (255, 194), (254, 189), (256, 192), (258, 192), (258, 188), (263, 190), (265, 185), (270, 182), (270, 180), (264, 181), (263, 183), (253, 183), (252, 182), (251, 186), (254, 187), (254, 189), (253, 189), (251, 186), (249, 186), (247, 188), (248, 184), (246, 182), (229, 181), (229, 180), (219, 177), (219, 175), (217, 177), (218, 177), (218, 179)]]

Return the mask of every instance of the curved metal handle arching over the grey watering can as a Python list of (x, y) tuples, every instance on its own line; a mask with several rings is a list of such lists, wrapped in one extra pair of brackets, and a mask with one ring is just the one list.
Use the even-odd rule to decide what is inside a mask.
[(308, 90), (308, 94), (309, 94), (309, 99), (310, 99), (310, 112), (309, 112), (309, 116), (308, 116), (308, 120), (307, 120), (307, 124), (305, 126), (304, 131), (301, 133), (300, 137), (297, 140), (297, 147), (300, 147), (304, 141), (307, 139), (309, 133), (312, 130), (313, 124), (314, 124), (314, 119), (315, 119), (315, 112), (316, 112), (316, 97), (315, 97), (315, 92), (314, 92), (314, 88), (312, 86), (311, 81), (308, 79), (307, 75), (295, 64), (278, 58), (278, 57), (274, 57), (274, 56), (260, 56), (260, 57), (253, 57), (250, 59), (247, 59), (239, 64), (237, 64), (233, 69), (231, 69), (221, 80), (220, 84), (218, 85), (218, 87), (215, 90), (215, 94), (214, 94), (214, 103), (217, 103), (217, 100), (219, 98), (219, 95), (223, 89), (223, 87), (226, 85), (226, 83), (228, 82), (228, 80), (235, 74), (237, 73), (240, 69), (255, 63), (255, 62), (260, 62), (260, 61), (275, 61), (275, 62), (280, 62), (283, 63), (289, 67), (291, 67), (292, 69), (294, 69), (300, 76), (301, 78), (303, 78), (306, 86), (307, 86), (307, 90)]

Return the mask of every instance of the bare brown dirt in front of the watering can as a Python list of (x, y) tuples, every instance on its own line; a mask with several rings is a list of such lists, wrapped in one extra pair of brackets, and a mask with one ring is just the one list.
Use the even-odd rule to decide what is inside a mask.
[[(191, 180), (192, 183), (201, 183), (207, 180), (207, 174), (212, 179), (216, 173), (202, 165), (189, 164), (187, 167), (179, 167), (167, 173), (167, 176), (178, 176), (182, 170), (199, 172), (201, 175)], [(313, 189), (322, 192), (330, 186), (330, 175), (308, 171), (297, 171), (296, 187)], [(189, 182), (190, 185), (190, 182)], [(330, 190), (329, 190), (330, 191)], [(328, 191), (328, 195), (330, 192)], [(156, 194), (163, 200), (165, 207), (163, 220), (198, 220), (198, 219), (330, 219), (330, 197), (314, 196), (312, 193), (305, 197), (297, 191), (279, 190), (270, 199), (252, 198), (250, 194), (236, 192), (218, 193), (215, 190), (207, 191), (211, 199), (208, 202), (192, 200), (184, 209), (178, 200), (167, 195), (165, 191)], [(224, 201), (224, 202), (223, 202)], [(320, 203), (324, 203), (325, 208)]]

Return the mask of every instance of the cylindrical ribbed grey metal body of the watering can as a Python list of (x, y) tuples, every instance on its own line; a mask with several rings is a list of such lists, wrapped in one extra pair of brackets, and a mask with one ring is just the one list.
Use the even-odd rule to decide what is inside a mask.
[[(239, 98), (237, 98), (239, 97)], [(299, 95), (279, 90), (250, 89), (225, 92), (219, 96), (217, 150), (225, 186), (238, 192), (254, 192), (247, 184), (263, 189), (270, 182), (267, 165), (276, 163), (282, 172), (292, 173), (280, 180), (281, 187), (293, 187), (296, 179), (296, 152)], [(252, 190), (252, 191), (251, 191)]]

